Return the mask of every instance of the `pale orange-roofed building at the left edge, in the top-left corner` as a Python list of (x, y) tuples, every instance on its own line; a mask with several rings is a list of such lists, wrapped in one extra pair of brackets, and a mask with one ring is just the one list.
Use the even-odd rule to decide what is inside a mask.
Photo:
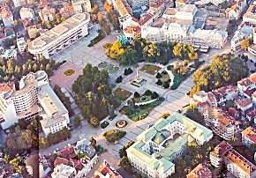
[(13, 24), (13, 15), (7, 4), (2, 4), (0, 7), (0, 19), (3, 20), (5, 27), (10, 27)]

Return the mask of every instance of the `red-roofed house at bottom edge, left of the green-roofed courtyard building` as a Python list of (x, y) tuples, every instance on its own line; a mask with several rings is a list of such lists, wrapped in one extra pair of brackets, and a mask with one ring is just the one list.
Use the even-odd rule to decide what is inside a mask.
[(117, 170), (114, 167), (111, 167), (106, 159), (103, 160), (102, 165), (94, 172), (94, 178), (105, 177), (123, 178), (120, 174), (117, 173)]

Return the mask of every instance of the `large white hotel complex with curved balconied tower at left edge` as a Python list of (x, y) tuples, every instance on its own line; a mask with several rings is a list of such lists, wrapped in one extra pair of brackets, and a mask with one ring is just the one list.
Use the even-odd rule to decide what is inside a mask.
[[(2, 127), (7, 129), (18, 119), (31, 119), (41, 115), (41, 127), (47, 136), (49, 132), (63, 130), (70, 122), (68, 111), (49, 86), (47, 73), (38, 70), (29, 73), (19, 81), (19, 90), (10, 83), (2, 84)], [(8, 87), (7, 87), (8, 86)], [(42, 112), (43, 111), (43, 112)]]

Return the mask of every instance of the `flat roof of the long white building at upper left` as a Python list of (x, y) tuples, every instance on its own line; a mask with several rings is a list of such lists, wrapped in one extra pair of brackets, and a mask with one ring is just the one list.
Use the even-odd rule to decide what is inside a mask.
[(65, 33), (69, 33), (75, 26), (79, 26), (82, 22), (89, 21), (90, 15), (88, 13), (78, 13), (72, 16), (70, 19), (66, 19), (64, 22), (55, 26), (47, 33), (41, 34), (38, 38), (34, 39), (29, 45), (30, 49), (42, 48), (52, 41), (56, 41)]

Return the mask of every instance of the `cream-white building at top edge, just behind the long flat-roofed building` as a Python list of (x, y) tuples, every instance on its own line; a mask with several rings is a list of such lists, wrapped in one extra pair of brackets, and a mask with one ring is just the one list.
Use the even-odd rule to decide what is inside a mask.
[(89, 0), (72, 0), (74, 13), (91, 12), (91, 2)]

